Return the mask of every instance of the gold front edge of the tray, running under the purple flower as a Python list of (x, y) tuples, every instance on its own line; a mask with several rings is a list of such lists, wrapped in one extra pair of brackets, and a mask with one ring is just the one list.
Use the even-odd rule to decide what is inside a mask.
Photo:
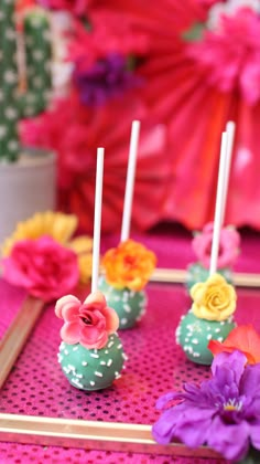
[(13, 441), (85, 450), (219, 457), (206, 446), (191, 450), (181, 443), (160, 445), (152, 437), (151, 425), (0, 413), (0, 442)]

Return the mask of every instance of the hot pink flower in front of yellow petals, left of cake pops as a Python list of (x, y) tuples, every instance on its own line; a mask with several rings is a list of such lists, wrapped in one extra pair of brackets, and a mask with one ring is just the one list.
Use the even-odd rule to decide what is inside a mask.
[(17, 242), (3, 260), (3, 277), (44, 302), (72, 291), (79, 278), (77, 255), (48, 236)]

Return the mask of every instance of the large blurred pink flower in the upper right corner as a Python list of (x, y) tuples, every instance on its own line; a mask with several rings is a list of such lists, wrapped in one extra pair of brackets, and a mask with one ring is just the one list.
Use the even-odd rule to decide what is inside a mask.
[(223, 14), (215, 31), (191, 43), (187, 54), (207, 73), (205, 78), (221, 92), (239, 89), (249, 104), (260, 98), (260, 17), (249, 8)]

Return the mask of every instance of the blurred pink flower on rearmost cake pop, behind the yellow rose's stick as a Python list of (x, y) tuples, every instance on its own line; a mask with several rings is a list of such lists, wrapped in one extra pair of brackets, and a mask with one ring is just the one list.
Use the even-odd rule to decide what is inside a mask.
[[(213, 242), (213, 223), (209, 222), (203, 228), (202, 233), (195, 235), (192, 242), (194, 252), (204, 267), (210, 264), (210, 252)], [(236, 229), (227, 226), (221, 229), (218, 255), (218, 268), (231, 266), (239, 253), (240, 236)]]

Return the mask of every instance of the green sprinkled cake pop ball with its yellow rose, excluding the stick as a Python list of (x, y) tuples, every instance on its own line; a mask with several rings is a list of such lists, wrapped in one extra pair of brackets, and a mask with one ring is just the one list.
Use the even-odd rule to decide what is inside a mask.
[(234, 286), (220, 274), (213, 274), (206, 282), (195, 284), (189, 294), (193, 304), (181, 318), (176, 342), (191, 361), (209, 366), (213, 361), (207, 348), (209, 340), (221, 342), (236, 327), (237, 295)]

